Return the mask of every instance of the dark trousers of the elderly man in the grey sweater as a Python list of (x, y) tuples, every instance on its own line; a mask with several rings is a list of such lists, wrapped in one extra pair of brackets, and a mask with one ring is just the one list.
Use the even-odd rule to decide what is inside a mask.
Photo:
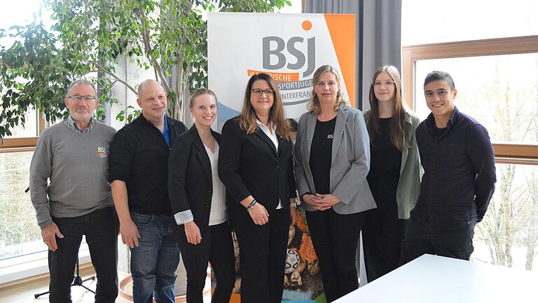
[(55, 252), (48, 251), (50, 302), (71, 302), (71, 283), (83, 235), (97, 275), (95, 302), (114, 302), (118, 296), (118, 231), (114, 208), (94, 210), (80, 217), (53, 217), (53, 222), (64, 238), (56, 238)]

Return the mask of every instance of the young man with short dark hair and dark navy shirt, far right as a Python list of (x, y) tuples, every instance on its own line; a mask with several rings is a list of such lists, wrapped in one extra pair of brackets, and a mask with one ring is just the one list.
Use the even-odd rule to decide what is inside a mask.
[(454, 81), (431, 72), (424, 82), (432, 111), (416, 130), (424, 168), (420, 196), (411, 211), (403, 262), (425, 253), (469, 260), (474, 226), (495, 189), (495, 155), (488, 130), (454, 105)]

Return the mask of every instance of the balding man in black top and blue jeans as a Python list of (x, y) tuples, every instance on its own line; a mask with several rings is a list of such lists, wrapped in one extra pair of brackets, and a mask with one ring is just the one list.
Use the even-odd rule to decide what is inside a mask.
[(186, 131), (165, 115), (166, 93), (157, 81), (138, 88), (142, 114), (118, 130), (111, 144), (109, 175), (121, 240), (131, 251), (135, 302), (174, 302), (179, 247), (172, 234), (168, 154)]

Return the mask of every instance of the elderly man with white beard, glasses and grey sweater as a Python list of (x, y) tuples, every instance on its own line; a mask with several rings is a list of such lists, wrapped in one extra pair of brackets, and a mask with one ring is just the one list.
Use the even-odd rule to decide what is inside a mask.
[(92, 118), (95, 86), (71, 83), (69, 117), (39, 137), (30, 165), (30, 194), (48, 246), (50, 302), (71, 302), (82, 236), (97, 274), (95, 302), (118, 296), (117, 227), (108, 180), (109, 146), (116, 130)]

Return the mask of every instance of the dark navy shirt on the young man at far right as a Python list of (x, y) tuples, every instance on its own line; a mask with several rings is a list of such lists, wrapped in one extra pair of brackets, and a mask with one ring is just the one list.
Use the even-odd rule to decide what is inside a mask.
[(411, 216), (429, 220), (432, 230), (480, 222), (495, 190), (495, 155), (488, 130), (454, 109), (444, 133), (436, 135), (429, 114), (416, 130), (424, 168), (420, 196)]

